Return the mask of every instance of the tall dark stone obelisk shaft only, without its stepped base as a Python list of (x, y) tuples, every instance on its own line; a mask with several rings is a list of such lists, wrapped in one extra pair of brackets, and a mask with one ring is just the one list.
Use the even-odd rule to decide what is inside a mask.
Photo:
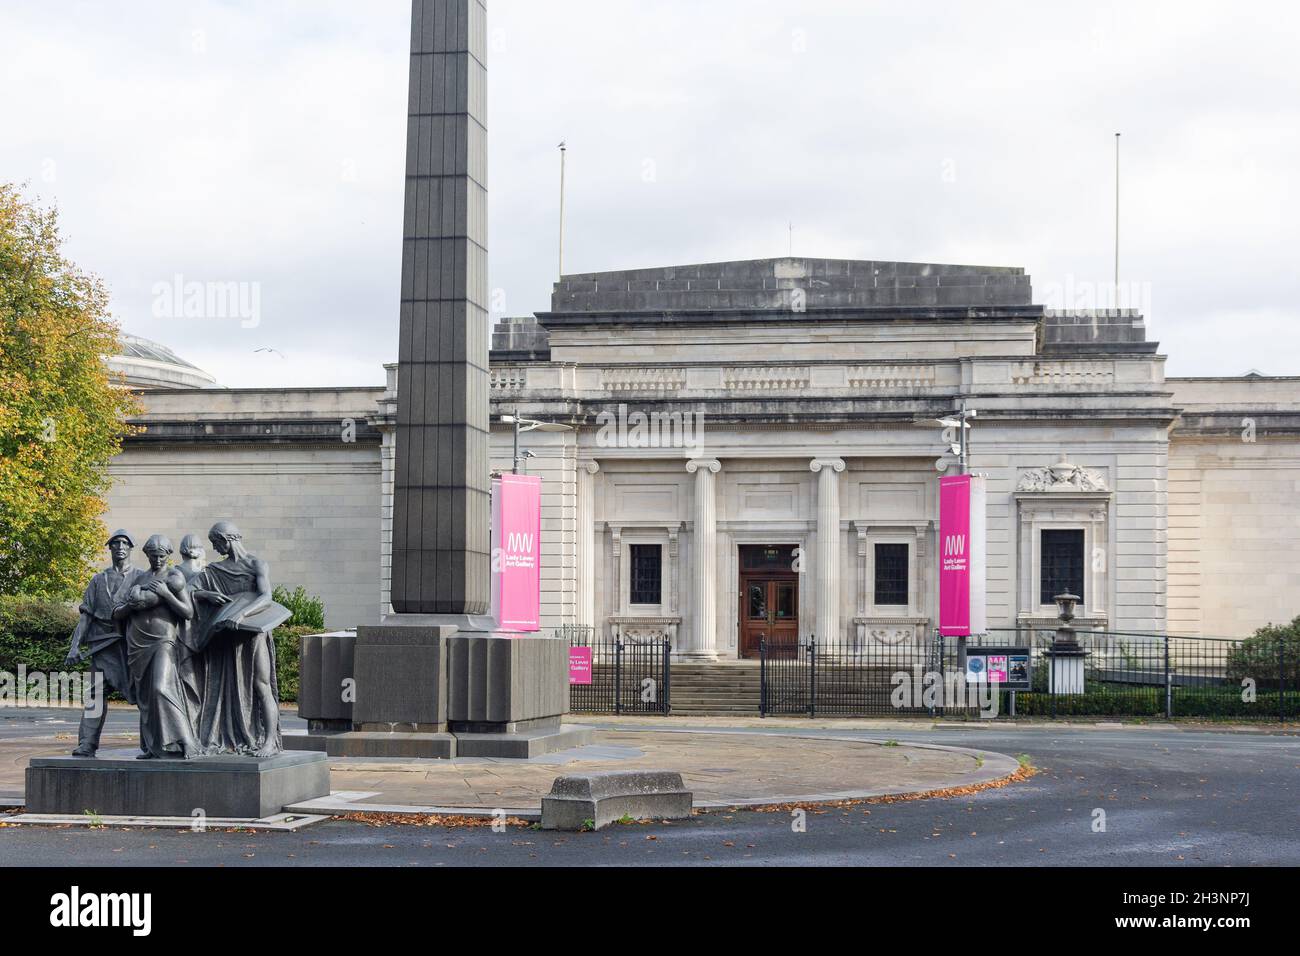
[(407, 111), (393, 607), (486, 614), (488, 72), (481, 0), (415, 0)]

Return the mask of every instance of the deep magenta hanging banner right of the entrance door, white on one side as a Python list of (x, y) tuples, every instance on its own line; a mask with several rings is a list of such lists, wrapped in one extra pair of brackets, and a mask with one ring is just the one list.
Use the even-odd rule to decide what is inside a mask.
[(939, 479), (939, 632), (984, 633), (984, 479)]

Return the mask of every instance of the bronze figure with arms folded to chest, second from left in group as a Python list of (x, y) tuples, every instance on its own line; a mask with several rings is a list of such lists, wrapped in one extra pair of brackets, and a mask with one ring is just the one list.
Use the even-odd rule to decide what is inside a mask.
[(194, 618), (185, 575), (169, 568), (172, 542), (144, 542), (150, 570), (118, 591), (113, 618), (126, 630), (126, 657), (140, 708), (140, 758), (187, 758), (199, 753), (181, 684), (181, 632)]

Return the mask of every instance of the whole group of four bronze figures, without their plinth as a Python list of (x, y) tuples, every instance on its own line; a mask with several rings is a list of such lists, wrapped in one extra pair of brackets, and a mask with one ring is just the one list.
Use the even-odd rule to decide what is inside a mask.
[(112, 688), (140, 710), (140, 758), (281, 752), (272, 631), (290, 611), (272, 600), (266, 562), (230, 522), (208, 532), (221, 561), (202, 566), (199, 538), (144, 542), (150, 568), (130, 563), (125, 531), (108, 540), (112, 566), (86, 587), (68, 665), (90, 657), (91, 682), (77, 749), (94, 757)]

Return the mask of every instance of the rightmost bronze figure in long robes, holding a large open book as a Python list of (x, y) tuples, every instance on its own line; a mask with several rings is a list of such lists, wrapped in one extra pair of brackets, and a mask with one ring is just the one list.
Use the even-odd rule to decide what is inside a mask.
[(269, 567), (244, 549), (239, 528), (217, 522), (208, 541), (224, 559), (190, 580), (198, 617), (186, 641), (202, 656), (199, 748), (270, 757), (282, 749), (270, 632), (290, 611), (272, 600)]

